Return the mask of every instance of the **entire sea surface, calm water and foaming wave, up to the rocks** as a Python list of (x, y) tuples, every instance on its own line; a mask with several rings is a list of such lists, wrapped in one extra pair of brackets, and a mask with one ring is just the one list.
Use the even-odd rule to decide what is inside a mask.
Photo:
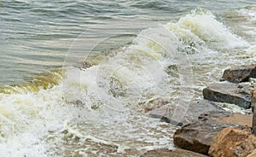
[[(256, 2), (0, 1), (0, 156), (173, 148), (159, 102), (201, 99), (256, 61)], [(230, 107), (230, 109), (236, 109)]]

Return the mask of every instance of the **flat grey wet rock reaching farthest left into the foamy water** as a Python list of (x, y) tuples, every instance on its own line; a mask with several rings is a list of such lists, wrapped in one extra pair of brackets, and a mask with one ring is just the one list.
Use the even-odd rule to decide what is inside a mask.
[[(184, 114), (184, 110), (187, 110)], [(201, 113), (208, 111), (224, 111), (213, 102), (202, 100), (198, 102), (190, 102), (188, 108), (179, 105), (163, 105), (160, 108), (153, 109), (148, 112), (148, 116), (152, 118), (162, 119), (172, 125), (186, 125), (192, 120), (198, 119)], [(182, 119), (176, 119), (174, 116), (184, 114)]]

